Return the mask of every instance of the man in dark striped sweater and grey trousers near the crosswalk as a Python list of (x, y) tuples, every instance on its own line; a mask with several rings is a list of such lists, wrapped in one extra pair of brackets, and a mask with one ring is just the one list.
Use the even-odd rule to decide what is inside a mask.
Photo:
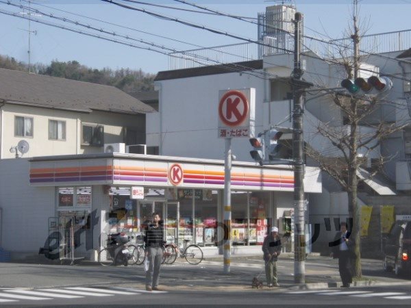
[(164, 230), (160, 224), (160, 214), (153, 213), (153, 221), (147, 226), (145, 244), (145, 255), (149, 260), (149, 270), (146, 272), (146, 290), (159, 290), (158, 278), (162, 261), (162, 242)]

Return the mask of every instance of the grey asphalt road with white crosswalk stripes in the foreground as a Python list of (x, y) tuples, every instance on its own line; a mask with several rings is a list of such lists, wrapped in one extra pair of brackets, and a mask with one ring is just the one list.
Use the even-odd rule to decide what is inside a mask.
[[(142, 266), (60, 266), (0, 264), (0, 305), (45, 305), (99, 307), (101, 305), (408, 305), (411, 279), (397, 279), (382, 270), (378, 260), (363, 260), (363, 272), (385, 285), (368, 287), (323, 287), (297, 290), (293, 260), (278, 262), (279, 288), (256, 290), (251, 278), (262, 272), (260, 257), (232, 260), (230, 274), (223, 274), (221, 260), (190, 266), (179, 261), (162, 267), (163, 292), (146, 292)], [(313, 257), (306, 261), (306, 281), (339, 281), (335, 260)], [(260, 277), (264, 280), (264, 273)], [(408, 306), (409, 307), (409, 306)]]

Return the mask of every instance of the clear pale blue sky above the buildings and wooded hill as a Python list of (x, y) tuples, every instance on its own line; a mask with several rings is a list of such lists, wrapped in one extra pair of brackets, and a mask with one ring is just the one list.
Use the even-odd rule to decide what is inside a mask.
[[(204, 26), (208, 29), (225, 31), (241, 38), (257, 39), (257, 26), (253, 23), (225, 16), (187, 11), (204, 12), (175, 0), (113, 0), (138, 10), (146, 10), (145, 12), (121, 8), (119, 5), (99, 0), (32, 0), (30, 3), (28, 0), (9, 1), (26, 8), (8, 5), (8, 0), (0, 0), (0, 55), (8, 55), (25, 63), (28, 63), (27, 51), (30, 49), (32, 63), (39, 62), (47, 65), (53, 60), (64, 62), (76, 60), (90, 68), (111, 68), (113, 70), (132, 68), (155, 74), (169, 69), (167, 54), (171, 51), (245, 42), (204, 29), (182, 25), (176, 21), (154, 17), (147, 12), (155, 12), (171, 19), (178, 18), (179, 21)], [(251, 18), (256, 18), (258, 12), (264, 12), (266, 6), (282, 2), (264, 0), (186, 1), (219, 12)], [(290, 3), (290, 1), (284, 2)], [(297, 11), (304, 15), (304, 34), (327, 40), (345, 37), (352, 14), (352, 0), (292, 0), (291, 3), (295, 4)], [(171, 8), (164, 8), (164, 6)], [(38, 12), (32, 12), (31, 18), (58, 27), (35, 21), (29, 23), (27, 19), (8, 15), (28, 16), (27, 7), (38, 10)], [(186, 11), (173, 8), (182, 8)], [(360, 25), (362, 29), (367, 30), (366, 34), (411, 29), (410, 12), (411, 0), (361, 0)], [(74, 29), (76, 32), (61, 29), (61, 27)], [(101, 29), (101, 31), (92, 28)], [(105, 36), (108, 40), (79, 34), (78, 31), (88, 32), (94, 36)], [(158, 49), (161, 53), (129, 47), (112, 40)]]

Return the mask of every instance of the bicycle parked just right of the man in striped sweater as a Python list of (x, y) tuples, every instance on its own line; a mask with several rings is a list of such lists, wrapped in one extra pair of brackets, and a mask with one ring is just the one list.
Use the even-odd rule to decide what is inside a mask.
[(203, 251), (200, 246), (196, 244), (188, 245), (188, 242), (190, 242), (190, 240), (184, 240), (181, 250), (174, 243), (166, 244), (164, 246), (164, 263), (173, 264), (175, 259), (177, 259), (177, 255), (180, 258), (185, 258), (189, 264), (196, 265), (203, 261)]

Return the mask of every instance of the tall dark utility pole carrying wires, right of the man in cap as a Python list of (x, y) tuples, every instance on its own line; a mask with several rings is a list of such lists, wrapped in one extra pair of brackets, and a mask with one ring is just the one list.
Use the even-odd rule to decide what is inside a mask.
[(293, 97), (292, 111), (292, 159), (294, 162), (294, 279), (295, 283), (306, 282), (306, 215), (304, 202), (304, 161), (303, 161), (303, 89), (312, 84), (301, 80), (300, 53), (302, 47), (301, 23), (303, 15), (295, 13), (294, 23), (294, 69), (291, 84)]

